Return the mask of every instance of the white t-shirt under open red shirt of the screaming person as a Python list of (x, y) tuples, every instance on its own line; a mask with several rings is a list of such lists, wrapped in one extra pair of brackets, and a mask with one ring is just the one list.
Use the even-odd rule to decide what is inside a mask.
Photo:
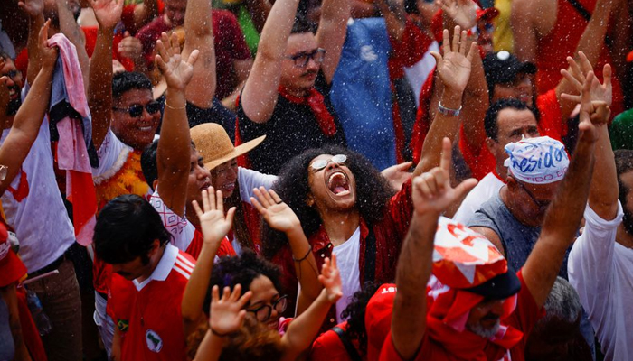
[(356, 228), (354, 234), (343, 245), (336, 245), (332, 250), (336, 255), (336, 264), (341, 273), (343, 297), (336, 301), (336, 322), (341, 323), (341, 312), (361, 289), (361, 271), (358, 265), (361, 254), (361, 227)]

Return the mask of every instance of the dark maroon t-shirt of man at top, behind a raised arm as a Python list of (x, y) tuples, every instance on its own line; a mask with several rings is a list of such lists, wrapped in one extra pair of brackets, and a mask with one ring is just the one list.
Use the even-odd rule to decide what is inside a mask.
[[(222, 99), (229, 96), (238, 86), (233, 60), (250, 59), (250, 50), (234, 14), (227, 10), (213, 9), (212, 15), (217, 74), (215, 97)], [(156, 41), (160, 39), (161, 32), (171, 30), (163, 16), (159, 16), (137, 32), (137, 38), (143, 44), (143, 57), (150, 68), (154, 64)]]

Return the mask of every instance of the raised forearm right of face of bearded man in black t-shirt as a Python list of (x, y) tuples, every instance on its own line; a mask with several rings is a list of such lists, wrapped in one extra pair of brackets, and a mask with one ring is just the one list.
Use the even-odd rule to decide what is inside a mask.
[(347, 34), (347, 20), (350, 16), (350, 0), (323, 0), (321, 20), (316, 31), (316, 43), (326, 50), (326, 58), (321, 69), (327, 83), (334, 79), (338, 60)]

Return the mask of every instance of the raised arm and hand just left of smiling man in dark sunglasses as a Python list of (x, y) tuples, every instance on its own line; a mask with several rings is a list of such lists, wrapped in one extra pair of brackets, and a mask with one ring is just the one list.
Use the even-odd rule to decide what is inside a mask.
[(90, 60), (88, 106), (92, 115), (92, 143), (99, 149), (112, 119), (112, 40), (121, 19), (123, 0), (90, 0), (99, 31)]

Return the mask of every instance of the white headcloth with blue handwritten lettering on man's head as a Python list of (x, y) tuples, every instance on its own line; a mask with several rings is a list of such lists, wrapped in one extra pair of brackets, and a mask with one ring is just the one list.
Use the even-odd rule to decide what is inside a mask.
[(510, 156), (504, 165), (516, 180), (530, 184), (549, 184), (562, 180), (570, 164), (565, 146), (549, 136), (524, 138), (505, 145)]

